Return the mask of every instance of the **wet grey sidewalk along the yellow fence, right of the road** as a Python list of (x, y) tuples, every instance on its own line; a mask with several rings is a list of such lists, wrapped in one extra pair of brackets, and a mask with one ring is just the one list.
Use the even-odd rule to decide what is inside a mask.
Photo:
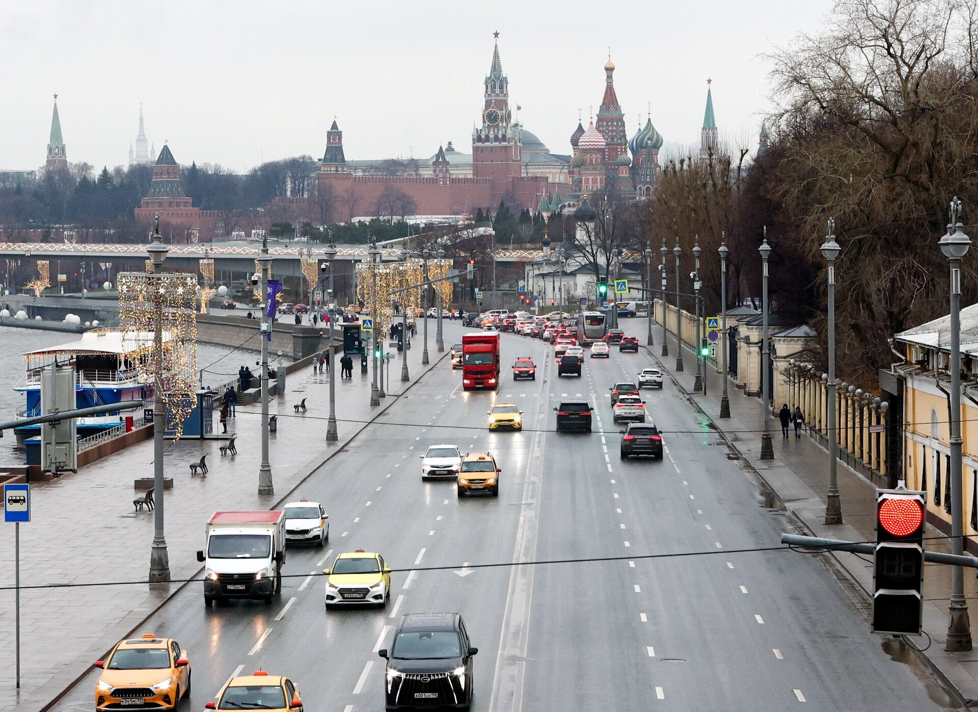
[[(781, 436), (778, 414), (770, 419), (770, 432), (775, 459), (761, 460), (761, 434), (764, 429), (764, 405), (760, 398), (745, 396), (729, 381), (731, 418), (720, 419), (720, 398), (723, 379), (715, 366), (707, 363), (705, 384), (707, 395), (693, 393), (696, 373), (696, 355), (684, 344), (684, 371), (676, 373), (676, 339), (669, 334), (669, 356), (661, 353), (661, 326), (654, 332), (655, 345), (647, 347), (660, 362), (665, 372), (687, 391), (689, 398), (728, 438), (744, 463), (771, 488), (777, 499), (800, 519), (808, 530), (801, 532), (827, 539), (857, 542), (875, 542), (876, 539), (876, 484), (847, 467), (841, 461), (837, 466), (837, 481), (842, 503), (842, 524), (824, 524), (825, 493), (828, 488), (828, 453), (814, 439), (805, 434), (795, 438), (793, 428), (789, 436)], [(643, 340), (645, 340), (643, 338)], [(780, 404), (777, 404), (780, 408)], [(789, 403), (792, 410), (795, 404)], [(879, 484), (885, 487), (885, 483)], [(928, 526), (926, 537), (940, 537), (941, 532)], [(931, 551), (951, 552), (943, 540), (926, 542)], [(839, 563), (859, 584), (867, 596), (872, 591), (872, 563), (869, 559), (845, 552), (834, 553)], [(953, 686), (964, 699), (978, 699), (978, 640), (971, 652), (948, 652), (944, 649), (948, 629), (948, 602), (951, 596), (951, 567), (927, 564), (924, 577), (923, 629), (931, 639), (924, 653), (935, 673)], [(964, 594), (971, 607), (971, 614), (978, 617), (978, 583), (971, 569), (964, 572)], [(867, 620), (868, 625), (868, 620)], [(914, 645), (927, 646), (927, 637), (912, 639)]]

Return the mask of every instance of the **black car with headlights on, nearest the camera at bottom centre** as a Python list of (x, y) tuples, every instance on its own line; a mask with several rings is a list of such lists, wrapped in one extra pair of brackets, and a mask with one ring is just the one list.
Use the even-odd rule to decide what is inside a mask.
[(468, 709), (472, 704), (472, 656), (459, 613), (407, 613), (394, 631), (384, 680), (388, 710), (415, 707)]

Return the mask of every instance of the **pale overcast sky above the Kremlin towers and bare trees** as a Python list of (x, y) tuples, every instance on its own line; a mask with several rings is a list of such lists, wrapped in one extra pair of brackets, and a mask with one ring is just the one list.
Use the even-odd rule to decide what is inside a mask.
[(639, 114), (669, 143), (698, 141), (713, 79), (721, 133), (756, 135), (769, 107), (760, 57), (817, 31), (832, 0), (133, 0), (0, 3), (0, 168), (44, 162), (57, 93), (70, 162), (128, 161), (139, 105), (158, 152), (244, 171), (322, 157), (333, 116), (346, 157), (468, 153), (500, 32), (520, 119), (570, 153), (598, 111), (607, 48), (629, 135)]

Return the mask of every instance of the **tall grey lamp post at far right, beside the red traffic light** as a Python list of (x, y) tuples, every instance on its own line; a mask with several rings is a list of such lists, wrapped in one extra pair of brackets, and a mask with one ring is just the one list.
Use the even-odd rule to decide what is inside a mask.
[[(948, 258), (951, 268), (951, 552), (964, 554), (964, 509), (961, 487), (961, 258), (967, 254), (971, 239), (964, 234), (961, 224), (961, 201), (951, 201), (951, 219), (948, 232), (941, 238), (941, 251)], [(945, 650), (970, 650), (971, 625), (968, 620), (968, 604), (964, 599), (964, 569), (951, 567), (951, 624)]]

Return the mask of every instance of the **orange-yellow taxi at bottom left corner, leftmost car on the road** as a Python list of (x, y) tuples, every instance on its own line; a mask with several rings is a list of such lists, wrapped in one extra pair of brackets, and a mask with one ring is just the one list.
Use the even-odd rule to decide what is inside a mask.
[(95, 683), (95, 709), (176, 709), (190, 694), (190, 658), (171, 638), (120, 641), (95, 667), (103, 672)]

